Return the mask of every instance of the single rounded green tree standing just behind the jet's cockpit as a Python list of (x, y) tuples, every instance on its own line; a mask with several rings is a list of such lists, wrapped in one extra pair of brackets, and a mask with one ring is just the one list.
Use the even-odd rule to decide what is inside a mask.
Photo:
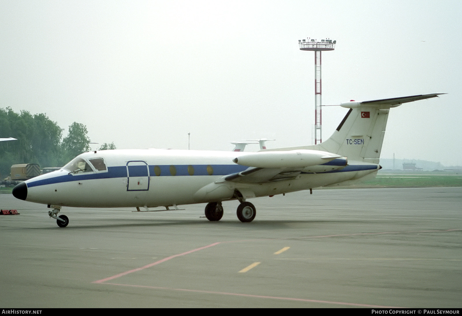
[(84, 124), (73, 122), (69, 126), (69, 133), (62, 140), (63, 158), (69, 161), (82, 152), (89, 152), (90, 138), (87, 134), (88, 130)]

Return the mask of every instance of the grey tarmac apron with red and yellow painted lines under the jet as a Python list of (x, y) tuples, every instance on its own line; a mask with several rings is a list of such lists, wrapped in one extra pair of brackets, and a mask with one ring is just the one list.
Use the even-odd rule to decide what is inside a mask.
[[(63, 207), (0, 194), (1, 308), (462, 307), (462, 188), (301, 191), (186, 210)], [(160, 208), (159, 208), (160, 209)], [(60, 214), (61, 214), (60, 213)]]

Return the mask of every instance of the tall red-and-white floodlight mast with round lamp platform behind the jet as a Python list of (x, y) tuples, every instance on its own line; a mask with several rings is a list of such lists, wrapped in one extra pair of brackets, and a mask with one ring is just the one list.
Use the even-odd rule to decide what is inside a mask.
[[(311, 50), (315, 52), (315, 144), (322, 142), (321, 130), (321, 52), (334, 50), (335, 43), (331, 39), (321, 40), (318, 42), (315, 39), (308, 38), (306, 40), (298, 40), (300, 50)], [(319, 134), (319, 136), (318, 136)]]

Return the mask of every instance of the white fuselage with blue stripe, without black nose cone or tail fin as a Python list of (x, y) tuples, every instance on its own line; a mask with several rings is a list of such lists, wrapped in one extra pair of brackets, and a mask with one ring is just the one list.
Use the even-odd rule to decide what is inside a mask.
[(233, 162), (245, 154), (169, 149), (86, 152), (78, 157), (87, 162), (103, 160), (105, 170), (93, 167), (70, 172), (62, 168), (37, 176), (25, 182), (25, 201), (69, 207), (184, 205), (230, 200), (236, 189), (246, 194), (244, 198), (251, 198), (332, 185), (362, 178), (379, 168), (377, 164), (349, 162), (340, 170), (302, 172), (280, 181), (223, 180), (248, 169)]

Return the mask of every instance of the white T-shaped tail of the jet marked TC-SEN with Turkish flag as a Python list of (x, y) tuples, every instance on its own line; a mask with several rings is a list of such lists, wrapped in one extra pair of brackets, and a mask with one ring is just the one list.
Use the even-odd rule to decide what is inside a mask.
[(340, 106), (349, 108), (349, 111), (328, 140), (317, 145), (271, 150), (314, 149), (345, 156), (348, 160), (378, 164), (389, 109), (401, 103), (438, 97), (439, 94), (444, 93), (342, 103)]

